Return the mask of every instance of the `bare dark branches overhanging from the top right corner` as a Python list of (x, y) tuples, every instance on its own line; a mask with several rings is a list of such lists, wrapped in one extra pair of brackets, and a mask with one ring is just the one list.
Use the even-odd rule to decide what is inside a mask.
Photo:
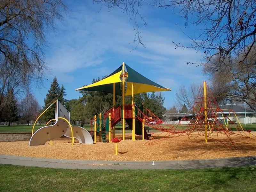
[[(134, 20), (136, 31), (134, 42), (143, 46), (139, 32), (140, 20), (144, 25), (147, 23), (140, 14), (142, 7), (147, 9), (147, 5), (150, 5), (178, 12), (185, 18), (186, 27), (191, 24), (204, 28), (199, 35), (194, 37), (187, 35), (192, 42), (190, 47), (173, 42), (176, 47), (194, 48), (204, 52), (200, 64), (204, 64), (205, 60), (211, 60), (214, 55), (226, 58), (232, 54), (238, 55), (242, 51), (245, 52), (244, 61), (255, 44), (255, 0), (93, 0), (93, 2), (105, 5), (109, 10), (119, 8), (125, 12)], [(215, 67), (219, 68), (224, 63), (218, 64)]]

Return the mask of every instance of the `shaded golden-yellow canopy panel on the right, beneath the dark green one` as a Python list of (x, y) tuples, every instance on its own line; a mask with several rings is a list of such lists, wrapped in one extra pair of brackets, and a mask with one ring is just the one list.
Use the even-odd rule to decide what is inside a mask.
[[(133, 94), (157, 91), (171, 91), (168, 88), (156, 87), (154, 85), (133, 83)], [(127, 89), (125, 95), (132, 95), (132, 82), (127, 82)]]

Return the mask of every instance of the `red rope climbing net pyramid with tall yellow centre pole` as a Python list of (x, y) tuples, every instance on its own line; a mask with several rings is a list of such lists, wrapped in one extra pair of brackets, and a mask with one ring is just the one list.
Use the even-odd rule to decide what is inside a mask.
[[(233, 110), (229, 111), (232, 111), (235, 114)], [(191, 137), (197, 138), (199, 136), (204, 136), (205, 143), (208, 142), (208, 139), (212, 139), (224, 144), (225, 146), (236, 149), (236, 146), (231, 136), (238, 136), (244, 139), (252, 139), (256, 141), (256, 136), (252, 134), (250, 130), (245, 131), (243, 129), (236, 114), (235, 116), (236, 121), (238, 122), (237, 124), (234, 124), (234, 122), (229, 119), (229, 116), (225, 116), (223, 114), (222, 109), (220, 109), (220, 107), (218, 106), (216, 100), (212, 95), (211, 90), (209, 89), (205, 81), (201, 86), (198, 92), (197, 99), (193, 107), (189, 110), (189, 113), (194, 114), (195, 120), (189, 120), (187, 118), (187, 114), (182, 118), (183, 121), (186, 120), (188, 122), (187, 124), (181, 124), (181, 121), (174, 125), (151, 124), (151, 127), (153, 127), (154, 129), (162, 131), (154, 138), (159, 137), (160, 135), (163, 136), (163, 134), (164, 136), (161, 139), (150, 140), (147, 143), (153, 144), (161, 140), (169, 139), (172, 137), (179, 137), (181, 135), (187, 135), (188, 139)], [(219, 117), (219, 114), (221, 114), (222, 118)], [(140, 116), (142, 116), (143, 118), (149, 116), (153, 120), (160, 120), (148, 109), (145, 114), (140, 111)], [(144, 123), (149, 124), (150, 122), (145, 121)], [(219, 136), (221, 134), (226, 136), (226, 141), (224, 141), (223, 139), (219, 139)]]

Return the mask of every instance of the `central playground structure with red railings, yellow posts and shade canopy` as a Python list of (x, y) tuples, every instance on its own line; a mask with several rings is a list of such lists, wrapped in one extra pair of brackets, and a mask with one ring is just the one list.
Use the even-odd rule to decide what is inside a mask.
[[(125, 68), (127, 71), (125, 71)], [(144, 122), (150, 121), (152, 118), (145, 115), (139, 115), (144, 109), (139, 109), (135, 105), (134, 94), (142, 92), (171, 91), (171, 89), (156, 84), (123, 63), (123, 65), (117, 68), (105, 79), (78, 88), (76, 91), (100, 91), (113, 94), (113, 107), (105, 114), (99, 114), (99, 117), (94, 116), (94, 119), (91, 121), (94, 124), (93, 140), (96, 143), (97, 133), (100, 137), (99, 140), (101, 141), (102, 139), (103, 142), (107, 142), (105, 140), (107, 132), (108, 141), (111, 141), (111, 138), (115, 138), (115, 126), (120, 121), (122, 121), (123, 125), (123, 140), (125, 140), (125, 122), (132, 128), (133, 141), (135, 140), (135, 135), (141, 135), (142, 140), (149, 140), (151, 134), (146, 132)], [(116, 95), (122, 96), (122, 106), (115, 106)], [(127, 95), (132, 96), (131, 105), (125, 105), (124, 96)]]

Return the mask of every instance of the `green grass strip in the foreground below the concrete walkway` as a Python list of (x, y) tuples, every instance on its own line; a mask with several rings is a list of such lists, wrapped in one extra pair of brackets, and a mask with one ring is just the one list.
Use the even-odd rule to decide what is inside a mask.
[(256, 166), (203, 170), (64, 170), (0, 165), (0, 191), (255, 191)]

